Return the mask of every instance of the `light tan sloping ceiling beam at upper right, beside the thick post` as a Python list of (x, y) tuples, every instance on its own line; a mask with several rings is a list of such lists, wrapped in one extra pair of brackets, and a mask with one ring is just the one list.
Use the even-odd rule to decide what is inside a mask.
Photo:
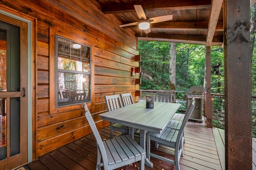
[(211, 46), (215, 33), (216, 25), (220, 16), (223, 0), (212, 0), (211, 13), (209, 16), (209, 25), (206, 39), (206, 46)]

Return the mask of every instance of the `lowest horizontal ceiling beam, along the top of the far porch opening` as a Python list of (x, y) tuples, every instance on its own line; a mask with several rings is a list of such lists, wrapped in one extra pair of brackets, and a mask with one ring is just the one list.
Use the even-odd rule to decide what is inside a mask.
[[(206, 36), (194, 36), (194, 35), (169, 35), (169, 34), (154, 34), (148, 33), (148, 36), (141, 36), (140, 33), (136, 34), (138, 40), (146, 41), (165, 41), (165, 42), (178, 42), (188, 44), (202, 44), (205, 45)], [(215, 36), (212, 40), (212, 45), (220, 46), (223, 44), (223, 36)]]

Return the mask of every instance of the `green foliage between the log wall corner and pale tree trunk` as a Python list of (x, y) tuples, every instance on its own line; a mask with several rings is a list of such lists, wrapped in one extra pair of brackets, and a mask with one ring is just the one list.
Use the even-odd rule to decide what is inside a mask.
[(141, 89), (169, 90), (169, 42), (139, 41)]

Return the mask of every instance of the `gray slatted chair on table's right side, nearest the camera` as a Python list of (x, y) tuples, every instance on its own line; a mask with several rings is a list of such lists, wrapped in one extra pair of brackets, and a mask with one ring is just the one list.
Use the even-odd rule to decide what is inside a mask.
[[(190, 104), (190, 107), (187, 109), (187, 113), (182, 122), (176, 122), (175, 124), (170, 122), (169, 125), (163, 129), (161, 134), (148, 132), (146, 133), (147, 137), (147, 146), (146, 146), (146, 157), (150, 159), (150, 156), (154, 158), (165, 160), (166, 162), (176, 165), (176, 169), (179, 170), (179, 159), (183, 156), (183, 131), (187, 124), (188, 118), (190, 117), (192, 111), (195, 108), (195, 99), (193, 98)], [(150, 153), (150, 140), (161, 143), (161, 145), (174, 148), (174, 160), (164, 158), (160, 155)]]

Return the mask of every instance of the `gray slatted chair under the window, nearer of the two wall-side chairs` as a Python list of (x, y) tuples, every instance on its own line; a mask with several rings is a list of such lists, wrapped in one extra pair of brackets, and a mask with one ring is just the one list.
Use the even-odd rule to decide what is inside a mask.
[[(122, 107), (119, 95), (105, 96), (107, 111), (114, 111)], [(129, 127), (110, 122), (110, 138), (113, 138), (113, 130), (120, 131), (123, 134), (129, 134)]]

